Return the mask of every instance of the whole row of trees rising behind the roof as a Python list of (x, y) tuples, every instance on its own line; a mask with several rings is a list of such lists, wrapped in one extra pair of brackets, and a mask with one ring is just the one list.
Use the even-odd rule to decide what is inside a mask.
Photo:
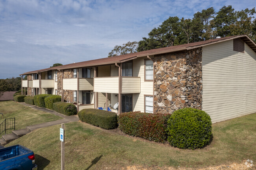
[(195, 13), (192, 19), (170, 16), (159, 27), (152, 29), (148, 33), (148, 37), (143, 37), (139, 42), (117, 45), (108, 57), (210, 40), (217, 36), (246, 34), (255, 42), (255, 14), (255, 7), (235, 11), (231, 5), (228, 5), (223, 6), (217, 12), (213, 7), (203, 9), (201, 12)]

